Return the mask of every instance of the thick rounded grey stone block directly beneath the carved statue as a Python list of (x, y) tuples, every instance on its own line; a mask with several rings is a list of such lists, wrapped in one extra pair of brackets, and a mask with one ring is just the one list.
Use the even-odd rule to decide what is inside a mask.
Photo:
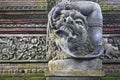
[(91, 71), (101, 70), (102, 61), (98, 58), (82, 60), (82, 59), (64, 59), (51, 60), (48, 63), (49, 71)]

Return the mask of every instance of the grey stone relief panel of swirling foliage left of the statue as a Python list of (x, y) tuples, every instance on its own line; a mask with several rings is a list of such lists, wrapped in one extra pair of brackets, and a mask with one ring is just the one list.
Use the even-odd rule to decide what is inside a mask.
[(0, 37), (1, 60), (46, 60), (46, 36)]

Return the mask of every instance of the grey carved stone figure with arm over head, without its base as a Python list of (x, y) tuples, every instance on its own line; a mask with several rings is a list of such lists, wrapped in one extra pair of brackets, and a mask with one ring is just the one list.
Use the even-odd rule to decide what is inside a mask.
[(48, 17), (48, 36), (54, 37), (51, 41), (56, 50), (73, 58), (95, 58), (103, 53), (103, 17), (97, 3), (64, 1)]

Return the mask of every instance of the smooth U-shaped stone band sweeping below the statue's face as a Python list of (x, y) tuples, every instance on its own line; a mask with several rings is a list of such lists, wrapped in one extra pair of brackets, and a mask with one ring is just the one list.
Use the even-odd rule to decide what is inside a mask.
[(79, 46), (73, 47), (74, 50), (71, 50), (72, 48), (70, 49), (68, 47), (68, 41), (65, 38), (61, 38), (58, 44), (60, 48), (63, 50), (63, 52), (65, 52), (66, 54), (68, 54), (73, 58), (82, 58), (82, 59), (96, 58), (96, 57), (99, 57), (104, 51), (104, 48), (102, 45), (95, 47), (92, 52), (89, 52), (89, 51), (87, 52), (85, 47), (79, 47)]

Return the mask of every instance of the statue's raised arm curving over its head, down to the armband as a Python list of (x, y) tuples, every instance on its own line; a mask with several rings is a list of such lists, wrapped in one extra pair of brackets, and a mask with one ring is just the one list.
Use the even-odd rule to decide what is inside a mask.
[[(67, 8), (66, 8), (67, 7)], [(98, 3), (91, 1), (75, 1), (70, 3), (60, 3), (56, 6), (53, 17), (57, 18), (62, 10), (78, 10), (84, 16), (87, 16), (89, 26), (103, 26), (103, 16)]]

